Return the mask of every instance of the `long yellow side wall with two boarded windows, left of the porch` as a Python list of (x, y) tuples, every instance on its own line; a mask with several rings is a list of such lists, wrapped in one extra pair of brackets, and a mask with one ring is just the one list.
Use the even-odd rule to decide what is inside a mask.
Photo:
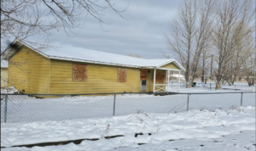
[[(87, 81), (72, 81), (73, 64), (88, 66)], [(127, 69), (126, 82), (117, 81), (118, 68)], [(140, 69), (51, 59), (51, 94), (140, 92), (140, 89)]]

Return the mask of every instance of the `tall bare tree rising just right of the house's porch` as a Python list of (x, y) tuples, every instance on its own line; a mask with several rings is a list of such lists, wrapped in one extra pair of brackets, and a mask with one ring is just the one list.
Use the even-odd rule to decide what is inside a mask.
[(168, 48), (178, 54), (186, 69), (187, 88), (195, 79), (201, 53), (210, 40), (214, 6), (213, 0), (184, 0), (178, 9), (177, 20), (170, 23), (170, 32), (166, 35)]

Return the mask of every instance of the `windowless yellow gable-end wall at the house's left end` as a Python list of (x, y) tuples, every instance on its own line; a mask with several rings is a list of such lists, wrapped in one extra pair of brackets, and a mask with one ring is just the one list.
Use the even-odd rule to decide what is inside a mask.
[(9, 59), (9, 87), (24, 93), (49, 93), (50, 61), (22, 46)]

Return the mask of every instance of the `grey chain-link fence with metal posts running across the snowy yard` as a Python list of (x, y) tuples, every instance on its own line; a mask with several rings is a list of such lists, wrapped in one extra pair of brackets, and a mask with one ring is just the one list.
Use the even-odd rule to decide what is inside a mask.
[(190, 109), (255, 107), (255, 92), (1, 94), (1, 122), (73, 120), (137, 112), (177, 113)]

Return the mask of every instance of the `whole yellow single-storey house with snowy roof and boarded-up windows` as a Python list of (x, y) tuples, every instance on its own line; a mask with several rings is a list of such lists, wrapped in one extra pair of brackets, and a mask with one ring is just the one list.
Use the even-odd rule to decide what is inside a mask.
[(3, 58), (12, 62), (9, 86), (30, 94), (168, 92), (166, 72), (184, 70), (175, 59), (138, 59), (84, 48), (43, 52), (17, 40)]

